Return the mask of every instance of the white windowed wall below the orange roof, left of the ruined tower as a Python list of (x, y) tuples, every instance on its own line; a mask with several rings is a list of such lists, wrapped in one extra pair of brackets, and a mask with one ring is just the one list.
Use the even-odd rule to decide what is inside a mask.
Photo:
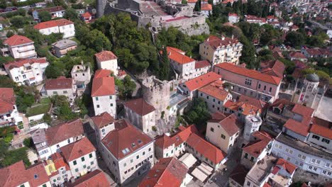
[(108, 112), (116, 118), (116, 95), (92, 97), (94, 115)]

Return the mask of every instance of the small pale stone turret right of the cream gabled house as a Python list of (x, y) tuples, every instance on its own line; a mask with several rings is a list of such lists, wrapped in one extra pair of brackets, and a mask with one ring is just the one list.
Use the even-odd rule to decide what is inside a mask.
[(262, 119), (258, 115), (245, 116), (245, 129), (243, 131), (243, 137), (247, 141), (253, 140), (253, 132), (258, 131), (262, 125)]

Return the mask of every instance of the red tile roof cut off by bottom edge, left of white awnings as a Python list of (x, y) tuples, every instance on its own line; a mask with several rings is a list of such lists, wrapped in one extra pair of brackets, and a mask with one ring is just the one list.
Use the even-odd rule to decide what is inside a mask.
[(150, 169), (138, 186), (181, 186), (187, 171), (187, 166), (174, 157), (162, 158)]

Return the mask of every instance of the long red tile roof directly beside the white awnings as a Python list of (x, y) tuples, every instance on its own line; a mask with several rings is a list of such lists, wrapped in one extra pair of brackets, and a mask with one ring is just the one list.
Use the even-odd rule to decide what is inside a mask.
[(193, 147), (203, 157), (209, 159), (214, 164), (220, 163), (226, 157), (226, 153), (222, 152), (221, 149), (218, 149), (218, 147), (215, 147), (195, 133), (192, 133), (188, 137), (187, 145)]

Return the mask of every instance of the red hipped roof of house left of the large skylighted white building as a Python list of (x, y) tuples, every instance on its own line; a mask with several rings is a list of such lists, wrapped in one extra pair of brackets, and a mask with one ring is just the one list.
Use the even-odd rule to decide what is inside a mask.
[(66, 161), (71, 162), (75, 159), (83, 157), (84, 155), (95, 152), (96, 148), (94, 148), (94, 145), (92, 145), (92, 143), (87, 139), (87, 137), (83, 137), (77, 142), (73, 142), (69, 145), (61, 147), (60, 150)]

